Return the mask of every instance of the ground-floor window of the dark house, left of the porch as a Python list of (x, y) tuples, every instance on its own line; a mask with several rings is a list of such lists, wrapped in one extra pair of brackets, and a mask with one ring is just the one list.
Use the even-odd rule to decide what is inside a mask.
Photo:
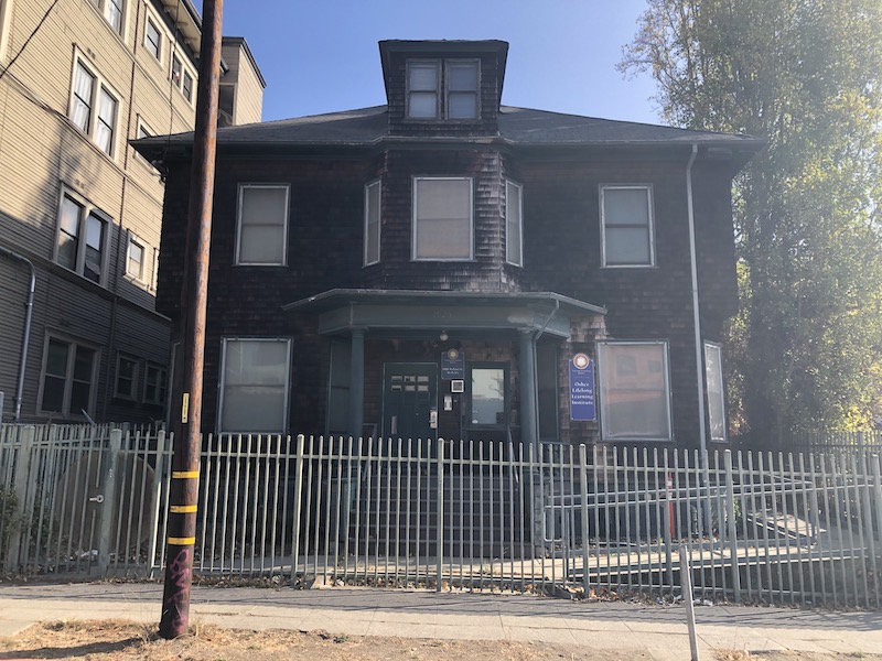
[(284, 432), (291, 340), (224, 338), (222, 360), (220, 431)]

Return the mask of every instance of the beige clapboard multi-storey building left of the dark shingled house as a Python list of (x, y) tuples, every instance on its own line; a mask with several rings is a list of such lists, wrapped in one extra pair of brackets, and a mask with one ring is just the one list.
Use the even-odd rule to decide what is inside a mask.
[[(200, 37), (190, 0), (0, 0), (3, 421), (163, 418), (163, 181), (129, 140), (193, 129)], [(223, 54), (219, 123), (260, 121), (247, 43)]]

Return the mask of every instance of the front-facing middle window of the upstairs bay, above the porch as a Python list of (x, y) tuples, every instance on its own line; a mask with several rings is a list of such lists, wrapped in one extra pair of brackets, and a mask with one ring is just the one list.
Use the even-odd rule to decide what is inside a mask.
[(415, 260), (471, 260), (472, 180), (413, 177)]

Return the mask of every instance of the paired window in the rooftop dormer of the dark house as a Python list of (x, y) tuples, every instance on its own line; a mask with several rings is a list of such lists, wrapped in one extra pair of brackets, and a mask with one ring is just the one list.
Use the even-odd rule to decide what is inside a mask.
[(474, 120), (480, 117), (477, 59), (410, 59), (407, 118)]

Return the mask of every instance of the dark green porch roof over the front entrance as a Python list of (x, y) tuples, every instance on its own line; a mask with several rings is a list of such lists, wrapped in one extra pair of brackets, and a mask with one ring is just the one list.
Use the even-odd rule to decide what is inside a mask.
[(323, 335), (368, 330), (542, 330), (569, 337), (574, 316), (604, 315), (598, 305), (553, 292), (330, 290), (283, 305), (319, 315)]

